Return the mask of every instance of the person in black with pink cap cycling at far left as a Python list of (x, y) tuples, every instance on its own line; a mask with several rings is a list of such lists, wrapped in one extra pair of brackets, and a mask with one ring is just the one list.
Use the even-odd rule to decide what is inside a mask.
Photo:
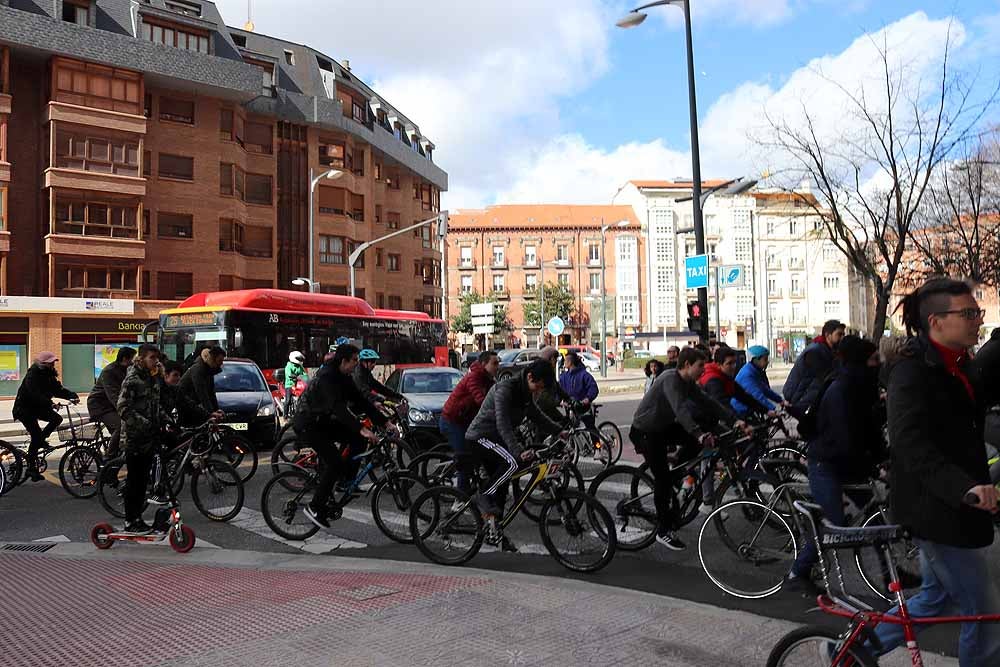
[[(31, 444), (28, 445), (28, 475), (32, 481), (38, 482), (42, 474), (38, 472), (38, 450), (45, 447), (45, 441), (62, 423), (62, 417), (52, 409), (52, 399), (62, 398), (78, 402), (80, 397), (59, 382), (56, 373), (56, 362), (59, 357), (51, 352), (40, 352), (24, 375), (24, 381), (17, 388), (17, 398), (14, 399), (13, 417), (24, 425)], [(45, 422), (45, 428), (38, 422)]]

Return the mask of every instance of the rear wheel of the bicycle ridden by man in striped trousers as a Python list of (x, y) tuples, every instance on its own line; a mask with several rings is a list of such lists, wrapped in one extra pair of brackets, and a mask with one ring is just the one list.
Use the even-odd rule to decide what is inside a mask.
[(461, 565), (483, 546), (483, 517), (469, 496), (450, 486), (427, 489), (413, 501), (410, 538), (428, 560)]

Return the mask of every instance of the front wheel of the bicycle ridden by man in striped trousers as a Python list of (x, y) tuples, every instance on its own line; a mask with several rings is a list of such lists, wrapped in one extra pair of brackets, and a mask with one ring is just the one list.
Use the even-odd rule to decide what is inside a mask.
[(573, 572), (597, 572), (615, 557), (611, 515), (581, 491), (568, 490), (542, 507), (538, 530), (542, 544), (560, 565)]

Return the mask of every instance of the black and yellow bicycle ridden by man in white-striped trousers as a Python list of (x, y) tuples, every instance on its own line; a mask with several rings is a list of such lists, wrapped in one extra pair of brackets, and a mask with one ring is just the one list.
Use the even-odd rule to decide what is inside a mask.
[[(514, 480), (527, 478), (528, 482), (497, 523), (501, 528), (509, 526), (532, 492), (540, 489), (548, 499), (539, 512), (538, 530), (549, 554), (574, 572), (596, 572), (614, 558), (617, 540), (611, 516), (600, 503), (581, 491), (561, 488), (562, 468), (571, 465), (575, 452), (569, 438), (547, 438), (537, 450), (537, 461), (514, 474)], [(568, 544), (557, 546), (560, 528)], [(461, 565), (482, 548), (485, 522), (473, 498), (451, 486), (436, 486), (413, 501), (410, 535), (429, 560)]]

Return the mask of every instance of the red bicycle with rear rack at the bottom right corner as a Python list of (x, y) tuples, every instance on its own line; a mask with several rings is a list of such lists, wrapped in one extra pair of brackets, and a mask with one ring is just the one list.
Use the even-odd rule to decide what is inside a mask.
[[(970, 502), (971, 501), (971, 502)], [(967, 498), (966, 502), (975, 504), (977, 499)], [(878, 665), (878, 659), (872, 654), (870, 646), (880, 647), (875, 636), (875, 628), (881, 623), (903, 626), (905, 647), (910, 654), (913, 667), (923, 667), (920, 647), (917, 645), (916, 630), (921, 626), (940, 623), (997, 623), (1000, 614), (982, 614), (978, 616), (927, 616), (914, 618), (910, 616), (903, 597), (903, 587), (899, 582), (899, 573), (893, 559), (891, 545), (906, 538), (902, 526), (879, 526), (872, 528), (843, 528), (834, 526), (823, 519), (819, 505), (795, 501), (795, 509), (808, 518), (806, 522), (812, 529), (813, 538), (820, 552), (820, 568), (823, 571), (823, 583), (826, 595), (817, 598), (820, 611), (846, 618), (849, 620), (845, 631), (837, 633), (834, 630), (820, 626), (805, 626), (792, 630), (771, 650), (767, 659), (767, 667), (796, 667), (798, 665), (830, 665), (831, 667), (870, 667)], [(882, 554), (889, 578), (889, 590), (895, 597), (899, 609), (897, 613), (876, 611), (865, 602), (847, 592), (844, 586), (844, 576), (840, 568), (837, 552), (841, 549), (875, 549)], [(831, 580), (832, 569), (836, 573), (836, 582)]]

